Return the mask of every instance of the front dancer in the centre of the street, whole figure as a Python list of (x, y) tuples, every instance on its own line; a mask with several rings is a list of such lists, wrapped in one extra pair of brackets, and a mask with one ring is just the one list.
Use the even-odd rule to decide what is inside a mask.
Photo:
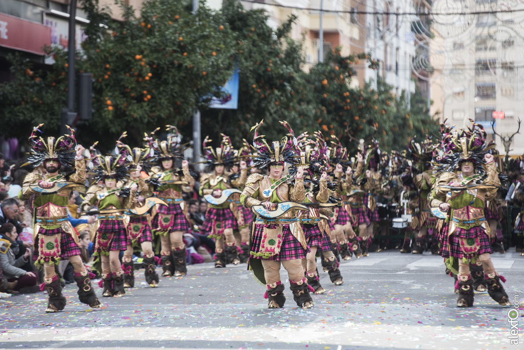
[[(268, 175), (252, 174), (246, 182), (241, 195), (241, 202), (247, 207), (262, 205), (266, 210), (274, 209), (278, 203), (292, 201), (303, 202), (305, 199), (304, 170), (297, 167), (294, 177), (283, 175), (284, 163), (298, 163), (294, 156), (293, 130), (287, 122), (280, 122), (290, 133), (280, 141), (267, 143), (258, 135), (261, 121), (255, 126), (253, 145), (257, 149), (255, 167), (267, 169)], [(293, 183), (294, 182), (294, 183)], [(303, 309), (313, 307), (310, 296), (312, 288), (304, 278), (302, 259), (305, 258), (307, 243), (298, 222), (297, 214), (288, 210), (277, 219), (268, 219), (257, 214), (253, 226), (249, 269), (252, 269), (260, 282), (266, 285), (265, 298), (268, 308), (282, 308), (286, 301), (284, 286), (280, 279), (280, 264), (288, 272), (293, 299)]]

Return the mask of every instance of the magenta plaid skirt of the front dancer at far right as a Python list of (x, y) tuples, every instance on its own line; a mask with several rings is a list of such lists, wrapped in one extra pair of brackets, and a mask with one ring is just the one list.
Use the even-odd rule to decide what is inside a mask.
[[(445, 232), (447, 236), (447, 230)], [(455, 232), (449, 236), (442, 236), (440, 254), (444, 258), (467, 258), (471, 259), (484, 253), (492, 254), (493, 250), (489, 237), (486, 234), (486, 230), (482, 226), (475, 226), (472, 228), (464, 229), (457, 227)], [(471, 248), (465, 251), (464, 244), (467, 245), (475, 244), (475, 248)]]

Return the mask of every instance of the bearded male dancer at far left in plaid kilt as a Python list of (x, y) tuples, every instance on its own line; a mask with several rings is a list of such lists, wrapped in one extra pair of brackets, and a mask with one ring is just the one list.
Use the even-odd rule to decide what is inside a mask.
[[(65, 307), (66, 301), (55, 272), (55, 264), (60, 259), (69, 259), (73, 266), (80, 301), (91, 308), (101, 308), (102, 304), (91, 286), (89, 272), (82, 263), (78, 236), (67, 218), (69, 195), (75, 185), (82, 188), (85, 181), (84, 148), (77, 145), (74, 132), (69, 127), (71, 135), (58, 139), (48, 137), (47, 140), (37, 137), (42, 126), (34, 128), (29, 138), (32, 149), (28, 163), (34, 168), (43, 163), (47, 174), (42, 175), (38, 171), (27, 174), (21, 193), (25, 199), (32, 198), (35, 209), (34, 259), (35, 265), (43, 266), (43, 281), (49, 298), (46, 312), (58, 312)], [(62, 166), (74, 168), (75, 172), (68, 178), (59, 171)], [(64, 183), (66, 185), (62, 186)]]

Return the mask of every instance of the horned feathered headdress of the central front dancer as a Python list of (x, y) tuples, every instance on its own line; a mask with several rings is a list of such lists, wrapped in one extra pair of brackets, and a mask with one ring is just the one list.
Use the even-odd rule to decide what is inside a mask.
[(294, 136), (293, 129), (289, 126), (288, 122), (280, 122), (289, 134), (279, 141), (273, 141), (271, 145), (264, 139), (265, 135), (258, 135), (258, 131), (264, 119), (257, 123), (251, 130), (255, 129), (255, 135), (253, 137), (253, 146), (257, 150), (257, 157), (254, 159), (253, 164), (258, 169), (267, 168), (271, 163), (289, 163), (295, 165), (298, 163), (298, 159), (295, 157), (293, 152), (293, 145), (298, 143), (297, 138)]

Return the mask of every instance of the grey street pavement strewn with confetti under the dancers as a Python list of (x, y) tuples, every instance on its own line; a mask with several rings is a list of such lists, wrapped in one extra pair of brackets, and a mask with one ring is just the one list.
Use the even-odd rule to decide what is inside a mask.
[[(493, 262), (507, 278), (510, 300), (524, 298), (524, 257), (511, 248), (493, 254)], [(267, 309), (265, 287), (245, 264), (189, 266), (188, 276), (162, 278), (156, 289), (138, 270), (137, 287), (122, 298), (100, 298), (102, 310), (81, 304), (73, 285), (64, 289), (67, 307), (56, 314), (44, 312), (43, 292), (2, 298), (0, 349), (524, 348), (524, 318), (517, 320), (519, 345), (512, 345), (511, 309), (487, 294), (476, 294), (473, 308), (455, 307), (453, 279), (440, 256), (386, 250), (343, 261), (342, 286), (319, 270), (326, 293), (313, 296), (309, 310), (297, 308), (285, 278), (285, 307)], [(98, 286), (96, 292), (102, 295)]]

